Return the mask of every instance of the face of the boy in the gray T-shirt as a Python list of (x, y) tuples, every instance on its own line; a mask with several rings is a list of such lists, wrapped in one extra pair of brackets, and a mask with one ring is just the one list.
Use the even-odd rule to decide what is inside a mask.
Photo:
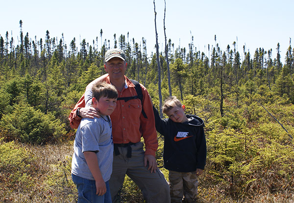
[(92, 106), (98, 108), (99, 112), (103, 116), (109, 116), (112, 114), (116, 107), (117, 99), (110, 99), (108, 97), (101, 97), (99, 101), (94, 97), (92, 99)]

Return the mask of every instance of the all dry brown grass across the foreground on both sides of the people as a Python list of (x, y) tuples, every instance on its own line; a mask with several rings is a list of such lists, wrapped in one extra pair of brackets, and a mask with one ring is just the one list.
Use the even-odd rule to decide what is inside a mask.
[[(36, 165), (37, 171), (32, 173), (32, 184), (30, 185), (19, 182), (7, 187), (0, 182), (0, 202), (75, 203), (77, 192), (70, 174), (73, 141), (45, 146), (18, 145), (26, 148), (36, 158), (32, 164)], [(209, 165), (207, 169), (209, 169)], [(265, 184), (258, 187), (259, 182), (256, 182), (247, 188), (247, 194), (234, 196), (232, 195), (234, 191), (230, 191), (232, 187), (229, 182), (227, 184), (218, 183), (211, 178), (208, 170), (199, 178), (198, 203), (294, 203), (293, 185), (284, 186), (284, 191), (282, 189), (270, 191), (270, 187), (265, 187)], [(128, 178), (126, 180), (128, 183), (125, 185), (133, 184), (129, 183)], [(266, 182), (264, 179), (261, 180)], [(275, 180), (274, 177), (271, 177), (267, 181), (268, 183), (283, 184), (283, 180)], [(282, 185), (280, 186), (283, 188)], [(123, 202), (143, 202), (140, 192), (132, 193), (132, 189), (127, 187), (122, 189)]]

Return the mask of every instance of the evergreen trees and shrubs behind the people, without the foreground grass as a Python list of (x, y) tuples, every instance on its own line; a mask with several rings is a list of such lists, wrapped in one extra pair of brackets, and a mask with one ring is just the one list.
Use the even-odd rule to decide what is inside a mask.
[[(33, 144), (73, 139), (69, 113), (86, 85), (105, 74), (104, 53), (118, 47), (125, 51), (126, 76), (145, 85), (157, 107), (159, 80), (163, 99), (169, 96), (168, 58), (172, 95), (183, 101), (187, 113), (205, 122), (208, 172), (203, 185), (218, 185), (215, 190), (232, 198), (285, 188), (294, 192), (291, 39), (286, 56), (280, 56), (279, 43), (272, 56), (272, 49), (263, 48), (250, 53), (243, 47), (240, 53), (236, 42), (222, 50), (216, 37), (216, 43), (208, 45), (208, 56), (196, 49), (193, 38), (188, 48), (174, 47), (169, 40), (167, 52), (159, 53), (158, 79), (156, 54), (147, 54), (145, 38), (135, 41), (129, 34), (114, 34), (102, 41), (101, 29), (101, 42), (98, 37), (83, 39), (79, 46), (75, 38), (65, 44), (63, 35), (51, 38), (49, 31), (44, 39), (32, 40), (20, 21), (18, 41), (8, 32), (0, 35), (0, 138)], [(214, 189), (203, 186), (202, 192)]]

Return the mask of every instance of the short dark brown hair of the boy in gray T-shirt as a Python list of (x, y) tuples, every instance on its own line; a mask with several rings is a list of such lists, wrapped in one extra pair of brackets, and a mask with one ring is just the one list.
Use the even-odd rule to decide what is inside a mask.
[(92, 95), (98, 101), (101, 97), (107, 97), (109, 99), (117, 99), (119, 94), (115, 86), (106, 82), (96, 82), (92, 88)]

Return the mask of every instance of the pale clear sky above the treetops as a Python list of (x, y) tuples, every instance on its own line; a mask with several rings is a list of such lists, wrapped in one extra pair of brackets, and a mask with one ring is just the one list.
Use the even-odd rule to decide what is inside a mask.
[[(155, 0), (156, 26), (160, 51), (165, 44), (164, 0)], [(83, 39), (93, 44), (98, 37), (98, 48), (102, 41), (110, 40), (114, 46), (124, 35), (129, 41), (147, 41), (147, 54), (155, 53), (155, 23), (153, 0), (1, 0), (0, 35), (15, 40), (23, 33), (32, 41), (45, 40), (46, 31), (58, 42), (64, 36), (66, 44), (73, 38), (79, 44)], [(165, 27), (167, 39), (174, 47), (189, 48), (192, 42), (197, 51), (208, 54), (208, 44), (219, 44), (225, 51), (227, 45), (243, 56), (243, 47), (251, 57), (257, 48), (272, 49), (276, 58), (277, 43), (280, 44), (281, 61), (284, 63), (290, 39), (294, 40), (294, 0), (166, 0)], [(216, 41), (215, 41), (216, 36)], [(17, 45), (15, 42), (15, 46)], [(97, 46), (97, 44), (96, 44)], [(292, 43), (292, 50), (293, 50)], [(211, 50), (211, 49), (210, 49)]]

